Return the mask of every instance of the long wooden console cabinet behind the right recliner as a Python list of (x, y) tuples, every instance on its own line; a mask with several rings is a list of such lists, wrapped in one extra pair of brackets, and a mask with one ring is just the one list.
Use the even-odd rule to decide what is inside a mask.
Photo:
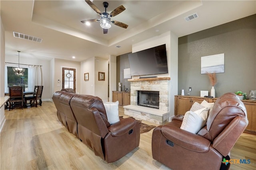
[[(194, 102), (201, 103), (206, 100), (208, 103), (214, 103), (217, 98), (204, 98), (198, 96), (180, 96), (174, 97), (174, 115), (184, 115), (190, 110)], [(248, 126), (244, 131), (256, 134), (256, 101), (255, 100), (242, 100), (247, 111)]]

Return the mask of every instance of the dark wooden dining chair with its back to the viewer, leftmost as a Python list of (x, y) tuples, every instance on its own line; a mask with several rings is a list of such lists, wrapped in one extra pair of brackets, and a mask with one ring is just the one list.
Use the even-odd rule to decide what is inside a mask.
[(22, 107), (24, 104), (23, 88), (22, 86), (9, 87), (9, 110), (15, 107)]

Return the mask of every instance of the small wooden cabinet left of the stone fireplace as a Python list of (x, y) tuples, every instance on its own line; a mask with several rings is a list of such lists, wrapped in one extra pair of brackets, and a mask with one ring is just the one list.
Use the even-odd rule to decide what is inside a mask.
[(112, 92), (112, 102), (118, 101), (119, 105), (126, 106), (130, 105), (130, 92)]

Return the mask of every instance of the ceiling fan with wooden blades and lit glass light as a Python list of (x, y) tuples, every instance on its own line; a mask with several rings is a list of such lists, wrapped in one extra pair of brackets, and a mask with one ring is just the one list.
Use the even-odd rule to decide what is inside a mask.
[(85, 0), (85, 2), (95, 11), (100, 15), (100, 19), (92, 19), (92, 20), (84, 20), (81, 21), (82, 23), (90, 23), (90, 22), (96, 22), (96, 21), (100, 21), (100, 27), (103, 28), (103, 33), (106, 34), (108, 33), (108, 28), (111, 27), (111, 24), (115, 24), (119, 27), (122, 28), (127, 28), (128, 25), (126, 25), (125, 23), (119, 22), (119, 21), (115, 21), (115, 20), (111, 20), (112, 17), (120, 14), (121, 12), (123, 12), (125, 10), (124, 6), (118, 6), (116, 9), (114, 9), (110, 14), (108, 14), (106, 12), (106, 9), (108, 8), (108, 2), (103, 2), (103, 6), (105, 8), (105, 12), (100, 12), (100, 10), (90, 1), (90, 0)]

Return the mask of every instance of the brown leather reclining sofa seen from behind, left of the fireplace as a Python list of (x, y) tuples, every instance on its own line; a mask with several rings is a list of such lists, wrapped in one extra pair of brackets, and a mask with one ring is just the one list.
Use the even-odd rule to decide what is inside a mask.
[(100, 98), (58, 91), (52, 99), (59, 121), (70, 133), (76, 127), (74, 135), (106, 162), (115, 162), (139, 146), (139, 123), (129, 117), (110, 125)]

